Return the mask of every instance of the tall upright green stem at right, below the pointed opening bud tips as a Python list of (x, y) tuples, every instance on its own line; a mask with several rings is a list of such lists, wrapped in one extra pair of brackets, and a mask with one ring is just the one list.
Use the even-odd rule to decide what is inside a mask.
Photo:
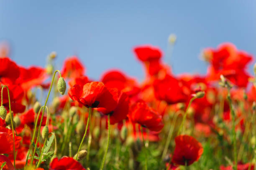
[(237, 151), (236, 151), (236, 130), (235, 130), (235, 112), (230, 97), (230, 88), (228, 88), (228, 104), (232, 115), (232, 133), (233, 133), (233, 149), (234, 149), (234, 170), (237, 170)]

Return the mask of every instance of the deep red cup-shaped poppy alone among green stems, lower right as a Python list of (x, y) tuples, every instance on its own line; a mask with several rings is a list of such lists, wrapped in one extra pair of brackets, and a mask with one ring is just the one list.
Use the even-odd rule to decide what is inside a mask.
[(189, 135), (179, 135), (175, 138), (175, 149), (172, 162), (178, 165), (191, 165), (197, 161), (203, 153), (201, 143)]

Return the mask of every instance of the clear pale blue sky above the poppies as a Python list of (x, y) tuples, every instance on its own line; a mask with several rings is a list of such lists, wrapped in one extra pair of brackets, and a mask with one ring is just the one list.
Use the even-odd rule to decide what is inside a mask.
[[(205, 73), (203, 48), (232, 42), (255, 56), (255, 32), (252, 0), (0, 0), (0, 41), (10, 44), (13, 60), (44, 67), (46, 56), (56, 51), (60, 69), (65, 57), (77, 55), (94, 79), (110, 68), (143, 79), (132, 52), (143, 44), (160, 47), (175, 74)], [(172, 56), (171, 33), (177, 35)]]

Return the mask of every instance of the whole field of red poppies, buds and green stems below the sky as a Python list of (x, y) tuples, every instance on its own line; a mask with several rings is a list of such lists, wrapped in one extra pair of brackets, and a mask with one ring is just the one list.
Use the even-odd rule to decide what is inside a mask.
[(122, 68), (94, 80), (77, 56), (23, 67), (2, 52), (0, 170), (256, 170), (253, 55), (225, 42), (202, 50), (205, 75), (176, 75), (159, 47), (132, 51), (140, 81)]

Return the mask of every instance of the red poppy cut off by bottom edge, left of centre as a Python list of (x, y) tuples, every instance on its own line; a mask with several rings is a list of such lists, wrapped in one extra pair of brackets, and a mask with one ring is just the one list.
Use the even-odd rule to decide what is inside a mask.
[(54, 158), (50, 163), (50, 170), (86, 170), (77, 160), (70, 157)]

